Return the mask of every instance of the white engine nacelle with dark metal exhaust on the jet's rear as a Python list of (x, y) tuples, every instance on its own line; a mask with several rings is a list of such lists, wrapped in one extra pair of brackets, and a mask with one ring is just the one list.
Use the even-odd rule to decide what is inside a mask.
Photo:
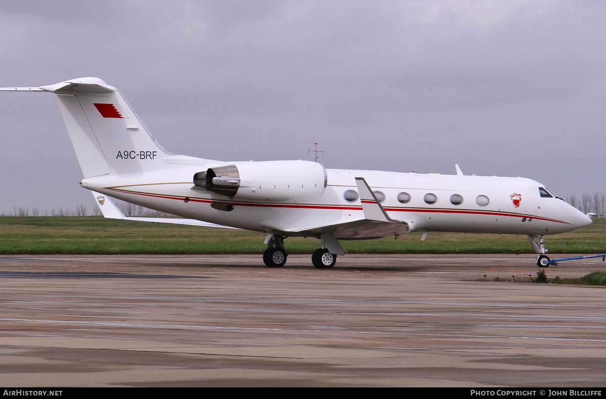
[(307, 160), (239, 162), (193, 176), (194, 185), (213, 193), (258, 201), (310, 200), (324, 193), (326, 180), (321, 163)]

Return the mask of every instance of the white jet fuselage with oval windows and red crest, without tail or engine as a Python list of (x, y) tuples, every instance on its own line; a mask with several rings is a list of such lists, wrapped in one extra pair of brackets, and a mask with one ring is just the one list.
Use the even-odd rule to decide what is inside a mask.
[[(82, 180), (81, 185), (190, 219), (255, 231), (288, 232), (288, 236), (308, 236), (309, 231), (321, 232), (321, 226), (364, 219), (360, 199), (348, 201), (344, 197), (345, 191), (357, 191), (357, 176), (364, 177), (371, 190), (383, 194), (381, 205), (388, 216), (408, 223), (410, 231), (547, 235), (591, 223), (589, 217), (563, 200), (541, 197), (539, 188), (544, 186), (522, 177), (327, 169), (325, 190), (314, 199), (238, 200), (193, 185), (192, 176), (209, 167), (207, 160), (200, 161), (204, 164), (92, 177)], [(212, 203), (233, 205), (233, 209), (216, 209)], [(367, 232), (351, 234), (335, 235), (338, 239), (378, 237), (376, 232), (370, 236)]]

